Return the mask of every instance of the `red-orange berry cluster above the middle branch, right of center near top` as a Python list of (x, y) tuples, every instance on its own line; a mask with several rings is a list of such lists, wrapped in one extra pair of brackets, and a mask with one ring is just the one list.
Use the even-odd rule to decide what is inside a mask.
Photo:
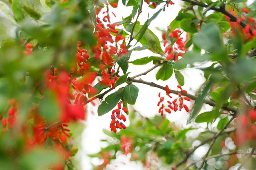
[[(180, 30), (174, 30), (170, 31), (171, 28), (168, 26), (168, 31), (164, 32), (162, 34), (162, 38), (164, 40), (163, 45), (166, 46), (166, 44), (170, 41), (170, 44), (166, 46), (165, 53), (167, 53), (166, 59), (168, 60), (175, 60), (175, 62), (178, 61), (178, 57), (182, 57), (184, 53), (180, 51), (187, 51), (185, 48), (186, 41), (183, 41), (183, 37), (179, 37), (179, 34), (181, 33)], [(169, 33), (168, 37), (167, 34)], [(188, 34), (187, 34), (188, 35)], [(189, 37), (186, 37), (186, 40)]]

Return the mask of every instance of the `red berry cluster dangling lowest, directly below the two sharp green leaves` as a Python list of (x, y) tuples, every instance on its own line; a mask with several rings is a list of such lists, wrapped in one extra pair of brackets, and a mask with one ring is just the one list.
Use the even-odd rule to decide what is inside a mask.
[[(127, 108), (122, 108), (122, 103), (121, 102), (119, 102), (118, 104), (117, 104), (117, 109), (114, 109), (113, 111), (112, 111), (112, 114), (111, 114), (111, 119), (112, 119), (112, 121), (111, 121), (111, 123), (110, 123), (110, 128), (111, 128), (111, 131), (113, 131), (114, 133), (116, 133), (116, 128), (119, 128), (119, 129), (125, 129), (126, 128), (126, 126), (125, 126), (125, 124), (123, 124), (122, 122), (120, 122), (121, 120), (123, 121), (123, 122), (125, 122), (126, 121), (126, 117), (125, 117), (125, 115), (121, 112), (121, 109), (125, 112), (125, 113), (127, 113), (128, 112), (128, 110), (127, 110)], [(118, 120), (119, 119), (119, 120)]]

